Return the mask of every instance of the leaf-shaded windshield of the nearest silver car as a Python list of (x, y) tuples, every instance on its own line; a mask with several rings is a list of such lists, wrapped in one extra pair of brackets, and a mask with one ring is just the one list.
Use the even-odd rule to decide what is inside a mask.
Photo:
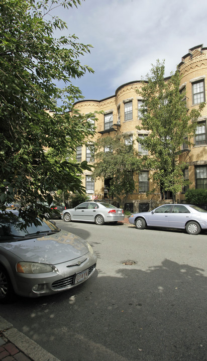
[(31, 224), (23, 227), (23, 220), (18, 216), (12, 219), (1, 215), (0, 219), (0, 242), (14, 238), (24, 238), (42, 233), (57, 232), (60, 229), (48, 220), (42, 220), (40, 225)]

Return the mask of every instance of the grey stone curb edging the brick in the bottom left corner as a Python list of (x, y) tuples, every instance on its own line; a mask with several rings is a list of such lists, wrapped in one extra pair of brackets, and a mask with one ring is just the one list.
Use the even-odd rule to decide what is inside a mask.
[[(44, 348), (42, 348), (40, 345), (38, 345), (35, 341), (31, 340), (22, 332), (18, 331), (12, 323), (8, 322), (0, 316), (0, 346), (4, 347), (4, 345), (7, 344), (8, 341), (10, 341), (14, 346), (16, 346), (18, 348), (18, 351), (22, 351), (24, 355), (29, 357), (29, 360), (60, 361), (58, 358), (56, 358), (51, 353), (47, 352)], [(15, 354), (10, 353), (10, 356), (13, 356), (13, 358), (10, 358), (11, 360), (17, 359), (15, 358)], [(24, 359), (24, 357), (20, 359)]]

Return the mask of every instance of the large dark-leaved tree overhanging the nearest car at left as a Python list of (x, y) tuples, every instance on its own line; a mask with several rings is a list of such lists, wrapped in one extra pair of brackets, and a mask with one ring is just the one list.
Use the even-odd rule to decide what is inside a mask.
[[(44, 216), (42, 203), (51, 203), (52, 191), (83, 191), (80, 174), (90, 169), (70, 157), (94, 134), (92, 114), (81, 115), (72, 106), (82, 95), (71, 83), (93, 72), (79, 61), (91, 46), (78, 43), (75, 35), (55, 38), (55, 31), (67, 27), (51, 13), (58, 6), (67, 10), (78, 4), (80, 0), (0, 4), (0, 208), (20, 202), (26, 223)], [(63, 89), (56, 85), (60, 81)]]

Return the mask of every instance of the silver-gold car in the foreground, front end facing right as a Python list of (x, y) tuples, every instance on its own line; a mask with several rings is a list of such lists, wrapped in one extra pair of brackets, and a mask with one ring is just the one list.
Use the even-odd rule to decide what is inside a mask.
[[(54, 223), (54, 222), (53, 222)], [(49, 220), (22, 228), (18, 212), (0, 219), (0, 303), (14, 294), (51, 295), (86, 281), (95, 271), (96, 255), (82, 238)]]

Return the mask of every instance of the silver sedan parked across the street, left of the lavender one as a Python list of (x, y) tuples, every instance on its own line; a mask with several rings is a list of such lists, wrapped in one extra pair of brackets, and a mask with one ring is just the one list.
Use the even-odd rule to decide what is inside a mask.
[(118, 220), (124, 220), (124, 211), (110, 203), (83, 202), (75, 208), (66, 209), (61, 213), (65, 222), (71, 220), (95, 222), (98, 225), (105, 222), (116, 224)]

